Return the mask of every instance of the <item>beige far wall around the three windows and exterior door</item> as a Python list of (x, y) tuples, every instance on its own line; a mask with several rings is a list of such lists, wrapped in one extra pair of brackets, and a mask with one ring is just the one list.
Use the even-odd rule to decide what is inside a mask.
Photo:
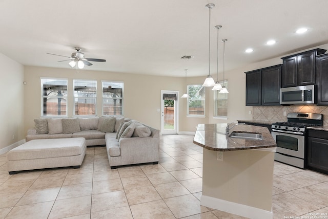
[[(124, 82), (124, 116), (141, 121), (149, 126), (160, 129), (161, 90), (179, 91), (182, 95), (184, 89), (183, 77), (162, 77), (140, 74), (127, 74), (104, 71), (25, 67), (25, 132), (34, 127), (34, 118), (41, 115), (41, 90), (40, 77), (68, 78), (68, 116), (73, 115), (73, 79), (96, 79), (98, 88), (101, 88), (101, 80)], [(98, 89), (98, 97), (101, 97), (101, 89)], [(179, 98), (179, 103), (185, 99)], [(182, 104), (183, 105), (183, 104)], [(182, 114), (183, 108), (179, 108)], [(101, 115), (101, 99), (97, 101), (97, 115)], [(183, 116), (180, 116), (180, 124), (183, 124)]]

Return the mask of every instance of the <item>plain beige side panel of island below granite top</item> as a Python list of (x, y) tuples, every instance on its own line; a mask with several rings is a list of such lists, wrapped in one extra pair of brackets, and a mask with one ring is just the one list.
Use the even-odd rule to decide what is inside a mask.
[[(203, 149), (202, 195), (272, 211), (274, 152)], [(220, 210), (220, 206), (216, 208)]]

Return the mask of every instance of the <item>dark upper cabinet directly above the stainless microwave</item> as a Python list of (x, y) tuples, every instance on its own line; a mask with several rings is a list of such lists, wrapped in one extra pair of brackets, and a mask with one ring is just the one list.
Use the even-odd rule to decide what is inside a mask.
[(316, 56), (325, 51), (325, 49), (313, 49), (282, 57), (281, 87), (314, 85), (316, 83)]

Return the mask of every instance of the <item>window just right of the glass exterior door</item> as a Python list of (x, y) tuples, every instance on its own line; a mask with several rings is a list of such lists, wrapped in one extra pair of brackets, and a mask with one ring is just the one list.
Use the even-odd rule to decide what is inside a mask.
[(188, 85), (187, 115), (205, 115), (205, 87), (201, 85)]

